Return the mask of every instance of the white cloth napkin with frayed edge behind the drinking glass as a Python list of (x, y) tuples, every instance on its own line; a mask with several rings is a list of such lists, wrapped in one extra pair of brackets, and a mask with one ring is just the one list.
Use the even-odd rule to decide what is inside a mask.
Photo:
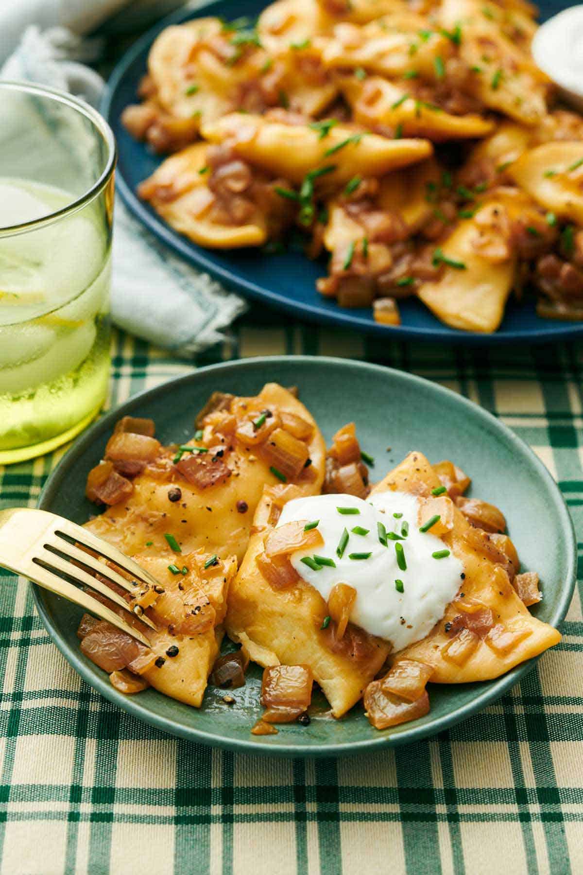
[[(0, 0), (0, 78), (41, 82), (98, 106), (105, 83), (83, 62), (99, 56), (101, 43), (82, 36), (122, 7), (131, 5), (135, 14), (144, 3), (151, 13), (152, 0)], [(158, 3), (168, 11), (168, 0)], [(120, 199), (113, 265), (115, 324), (180, 356), (223, 339), (221, 329), (246, 309), (239, 296), (158, 242)]]

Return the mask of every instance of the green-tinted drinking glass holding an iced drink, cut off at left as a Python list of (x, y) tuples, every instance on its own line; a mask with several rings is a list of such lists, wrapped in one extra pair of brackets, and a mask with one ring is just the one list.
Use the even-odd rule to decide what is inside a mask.
[(105, 399), (114, 170), (85, 102), (0, 82), (0, 464), (64, 444)]

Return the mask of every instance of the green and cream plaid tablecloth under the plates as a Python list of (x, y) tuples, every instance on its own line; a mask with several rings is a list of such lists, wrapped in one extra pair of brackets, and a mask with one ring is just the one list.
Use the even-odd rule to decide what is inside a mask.
[[(583, 346), (406, 346), (286, 325), (253, 312), (197, 364), (321, 353), (439, 381), (531, 444), (583, 531)], [(190, 367), (117, 335), (110, 402)], [(0, 468), (0, 506), (34, 507), (60, 455)], [(28, 585), (1, 582), (3, 875), (583, 872), (581, 589), (559, 647), (482, 714), (414, 746), (313, 762), (221, 753), (128, 717), (59, 655)]]

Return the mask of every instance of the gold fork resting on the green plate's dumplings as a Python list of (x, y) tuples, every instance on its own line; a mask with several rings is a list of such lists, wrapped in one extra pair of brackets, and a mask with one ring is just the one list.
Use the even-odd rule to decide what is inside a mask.
[[(128, 581), (117, 571), (109, 568), (105, 562), (80, 549), (76, 544), (94, 550), (100, 556), (119, 565), (132, 577), (132, 580)], [(130, 593), (133, 604), (110, 589), (108, 584), (104, 584), (74, 563), (80, 563), (87, 569), (97, 571), (102, 577), (119, 584)], [(156, 593), (163, 592), (163, 588), (155, 577), (133, 559), (129, 559), (121, 553), (121, 550), (88, 532), (87, 528), (81, 528), (57, 514), (49, 514), (45, 510), (33, 510), (30, 507), (10, 507), (0, 511), (0, 565), (16, 574), (28, 577), (45, 590), (68, 598), (75, 605), (94, 613), (101, 620), (108, 620), (137, 641), (142, 641), (142, 644), (149, 645), (148, 639), (139, 629), (122, 620), (108, 606), (102, 605), (97, 598), (75, 584), (89, 586), (92, 590), (101, 592), (101, 595), (107, 596), (124, 611), (133, 614), (154, 630), (156, 630), (155, 624), (142, 612), (141, 606), (135, 599), (144, 591), (144, 587), (146, 589), (151, 587)], [(74, 583), (61, 575), (70, 578)]]

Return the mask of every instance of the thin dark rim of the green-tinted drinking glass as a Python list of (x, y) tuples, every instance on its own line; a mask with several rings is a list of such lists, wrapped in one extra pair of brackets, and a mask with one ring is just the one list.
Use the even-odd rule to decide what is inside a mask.
[(52, 224), (52, 222), (58, 221), (69, 214), (77, 213), (80, 209), (86, 207), (88, 203), (94, 200), (94, 198), (103, 191), (105, 186), (107, 186), (109, 179), (111, 179), (117, 161), (117, 147), (115, 145), (114, 132), (111, 130), (104, 117), (101, 116), (101, 113), (99, 113), (97, 109), (94, 109), (94, 107), (90, 106), (89, 103), (80, 100), (80, 98), (73, 97), (73, 95), (69, 95), (66, 91), (61, 91), (59, 88), (49, 88), (45, 85), (38, 85), (36, 82), (2, 80), (0, 81), (0, 89), (1, 88), (22, 91), (65, 104), (70, 109), (74, 109), (82, 116), (85, 116), (89, 122), (93, 124), (94, 130), (97, 130), (108, 147), (108, 160), (106, 165), (101, 172), (99, 179), (96, 179), (94, 184), (87, 189), (87, 192), (73, 200), (70, 204), (67, 204), (66, 207), (61, 207), (59, 210), (55, 210), (54, 213), (49, 213), (38, 219), (32, 219), (31, 221), (20, 222), (17, 225), (9, 225), (6, 228), (0, 228), (0, 237), (8, 237), (10, 235), (22, 234), (25, 231), (33, 231), (37, 228), (43, 228), (45, 225)]

